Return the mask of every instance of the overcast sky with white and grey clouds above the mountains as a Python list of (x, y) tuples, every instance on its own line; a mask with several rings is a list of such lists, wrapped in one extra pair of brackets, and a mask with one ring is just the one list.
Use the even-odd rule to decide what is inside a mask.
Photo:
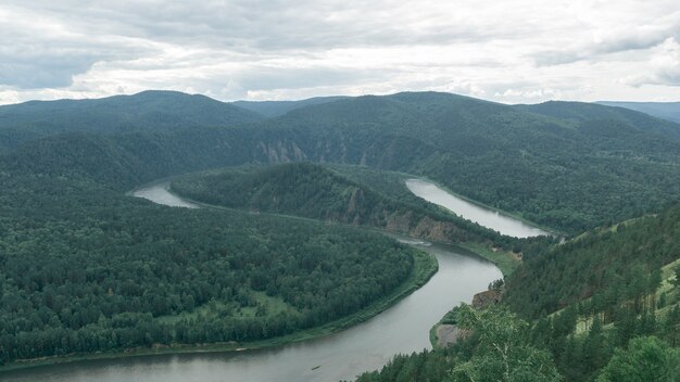
[(2, 0), (0, 104), (172, 89), (680, 101), (680, 3)]

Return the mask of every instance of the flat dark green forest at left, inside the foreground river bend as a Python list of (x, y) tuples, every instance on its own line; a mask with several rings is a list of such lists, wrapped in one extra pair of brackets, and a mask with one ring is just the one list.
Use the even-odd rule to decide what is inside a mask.
[(0, 178), (0, 362), (289, 334), (414, 269), (414, 250), (348, 227), (158, 206), (85, 177)]

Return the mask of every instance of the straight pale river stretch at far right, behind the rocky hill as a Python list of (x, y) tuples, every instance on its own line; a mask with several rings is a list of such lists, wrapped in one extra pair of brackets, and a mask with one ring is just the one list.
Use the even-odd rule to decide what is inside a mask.
[(423, 179), (408, 179), (406, 187), (416, 196), (423, 198), (430, 203), (441, 205), (454, 214), (475, 221), (480, 226), (491, 228), (515, 238), (530, 238), (539, 235), (550, 235), (538, 227), (530, 226), (512, 216), (503, 215), (498, 211), (486, 208), (475, 203), (470, 203), (462, 198), (453, 195), (439, 186)]

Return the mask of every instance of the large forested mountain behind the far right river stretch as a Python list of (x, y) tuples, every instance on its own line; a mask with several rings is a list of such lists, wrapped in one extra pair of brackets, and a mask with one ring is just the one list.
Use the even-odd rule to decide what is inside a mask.
[(318, 143), (308, 160), (426, 175), (473, 200), (578, 233), (680, 195), (680, 140), (603, 118), (558, 119), (428, 92), (345, 99), (264, 124), (312, 136)]

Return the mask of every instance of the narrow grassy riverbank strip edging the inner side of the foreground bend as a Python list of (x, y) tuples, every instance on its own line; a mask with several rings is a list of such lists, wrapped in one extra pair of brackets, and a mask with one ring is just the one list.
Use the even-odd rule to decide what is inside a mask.
[(126, 357), (141, 357), (161, 354), (181, 354), (181, 353), (219, 353), (219, 352), (242, 352), (249, 349), (278, 347), (291, 343), (307, 341), (316, 338), (330, 335), (332, 333), (344, 330), (349, 327), (364, 322), (378, 314), (387, 310), (398, 302), (410, 295), (411, 293), (425, 285), (439, 269), (439, 265), (433, 255), (424, 251), (416, 251), (413, 270), (399, 288), (389, 295), (374, 302), (369, 306), (344, 318), (326, 323), (322, 327), (302, 330), (284, 336), (262, 340), (256, 342), (229, 342), (215, 344), (173, 344), (156, 345), (154, 347), (137, 347), (127, 348), (115, 352), (96, 353), (96, 354), (71, 354), (66, 356), (47, 357), (39, 359), (20, 360), (9, 365), (0, 366), (0, 372), (20, 370), (39, 366), (49, 366), (55, 364), (66, 364), (96, 359), (114, 359)]

